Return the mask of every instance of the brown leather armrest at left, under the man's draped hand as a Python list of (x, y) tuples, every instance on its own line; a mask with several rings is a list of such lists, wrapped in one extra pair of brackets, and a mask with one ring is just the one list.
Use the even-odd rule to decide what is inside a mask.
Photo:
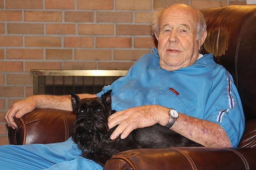
[(18, 128), (9, 127), (9, 143), (24, 145), (66, 141), (72, 135), (75, 120), (73, 111), (35, 109), (20, 119), (14, 119)]

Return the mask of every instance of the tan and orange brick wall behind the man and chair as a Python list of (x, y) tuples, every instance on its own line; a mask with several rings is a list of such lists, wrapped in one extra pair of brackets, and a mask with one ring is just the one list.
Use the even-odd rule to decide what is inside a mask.
[(30, 69), (129, 69), (151, 52), (150, 13), (183, 3), (197, 9), (245, 0), (0, 0), (0, 145), (5, 112), (33, 95)]

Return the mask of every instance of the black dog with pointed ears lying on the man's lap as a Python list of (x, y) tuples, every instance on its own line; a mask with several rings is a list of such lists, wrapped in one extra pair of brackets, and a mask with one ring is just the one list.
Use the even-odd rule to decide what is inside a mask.
[(117, 152), (139, 149), (179, 146), (202, 146), (159, 124), (135, 129), (125, 139), (111, 140), (116, 129), (108, 128), (111, 111), (111, 91), (101, 97), (81, 99), (72, 94), (72, 106), (77, 114), (72, 138), (82, 150), (83, 157), (104, 166)]

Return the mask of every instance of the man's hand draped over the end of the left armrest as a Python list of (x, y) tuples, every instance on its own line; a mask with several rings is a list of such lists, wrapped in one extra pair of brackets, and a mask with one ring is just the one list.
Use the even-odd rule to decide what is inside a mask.
[(35, 96), (31, 96), (14, 103), (4, 116), (7, 125), (13, 129), (17, 128), (17, 125), (14, 122), (14, 116), (16, 118), (20, 118), (26, 113), (33, 111), (35, 108), (37, 108), (38, 103), (35, 98)]

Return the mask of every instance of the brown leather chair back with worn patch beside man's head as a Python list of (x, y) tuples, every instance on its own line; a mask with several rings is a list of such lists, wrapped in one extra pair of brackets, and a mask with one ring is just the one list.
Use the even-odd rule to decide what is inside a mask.
[(208, 35), (204, 53), (226, 67), (235, 81), (246, 117), (239, 147), (256, 146), (256, 4), (202, 10)]

